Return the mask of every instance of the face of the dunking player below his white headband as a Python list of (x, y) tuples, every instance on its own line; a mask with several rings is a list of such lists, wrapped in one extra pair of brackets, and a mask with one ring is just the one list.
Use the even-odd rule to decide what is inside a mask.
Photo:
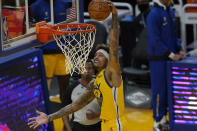
[(102, 70), (107, 66), (107, 58), (101, 52), (96, 52), (94, 56), (94, 66), (97, 70)]

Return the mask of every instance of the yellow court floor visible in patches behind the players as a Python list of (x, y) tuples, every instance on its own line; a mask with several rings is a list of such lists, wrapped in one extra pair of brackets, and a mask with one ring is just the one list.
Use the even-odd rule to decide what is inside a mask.
[[(59, 98), (52, 98), (51, 101), (60, 102)], [(125, 113), (129, 122), (129, 131), (152, 131), (153, 118), (151, 109), (126, 107)], [(55, 131), (63, 131), (61, 119), (54, 121), (54, 128)]]

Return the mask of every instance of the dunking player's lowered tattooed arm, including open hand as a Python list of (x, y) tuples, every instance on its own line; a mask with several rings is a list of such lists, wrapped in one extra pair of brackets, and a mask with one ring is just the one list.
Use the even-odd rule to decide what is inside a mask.
[(81, 109), (82, 107), (86, 106), (87, 104), (89, 104), (94, 98), (95, 96), (93, 93), (93, 88), (89, 87), (75, 102), (61, 108), (59, 111), (53, 114), (46, 115), (43, 112), (36, 111), (36, 113), (39, 114), (39, 116), (29, 118), (28, 125), (30, 128), (35, 129), (42, 124), (46, 124), (50, 121), (53, 121), (54, 119), (63, 117), (64, 115), (68, 116), (69, 114), (72, 114)]

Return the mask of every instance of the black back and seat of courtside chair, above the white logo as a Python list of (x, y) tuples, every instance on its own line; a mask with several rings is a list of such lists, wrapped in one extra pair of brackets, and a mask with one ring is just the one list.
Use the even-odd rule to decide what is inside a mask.
[(139, 36), (139, 41), (132, 52), (130, 67), (123, 68), (125, 82), (134, 81), (137, 84), (150, 85), (150, 71), (148, 67), (148, 33), (144, 29)]

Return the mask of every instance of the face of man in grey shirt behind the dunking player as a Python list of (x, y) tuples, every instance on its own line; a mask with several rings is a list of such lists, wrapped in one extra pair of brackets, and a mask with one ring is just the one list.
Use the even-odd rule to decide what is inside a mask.
[(86, 73), (82, 74), (81, 77), (83, 77), (86, 80), (91, 80), (92, 75), (94, 75), (94, 67), (91, 62), (86, 62)]

